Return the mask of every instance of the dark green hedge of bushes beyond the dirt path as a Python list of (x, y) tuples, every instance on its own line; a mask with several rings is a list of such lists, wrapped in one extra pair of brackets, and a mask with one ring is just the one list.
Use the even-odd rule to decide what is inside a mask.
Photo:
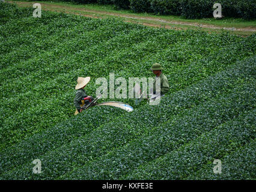
[[(59, 0), (56, 0), (59, 1)], [(172, 14), (189, 19), (213, 17), (213, 5), (222, 5), (225, 17), (255, 19), (255, 0), (62, 0), (79, 4), (114, 4), (117, 8), (130, 9), (135, 12)]]

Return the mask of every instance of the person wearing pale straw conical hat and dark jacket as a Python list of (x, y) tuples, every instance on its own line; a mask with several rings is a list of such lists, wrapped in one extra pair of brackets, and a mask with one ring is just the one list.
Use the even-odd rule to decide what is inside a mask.
[(74, 105), (77, 109), (76, 113), (81, 113), (82, 109), (81, 106), (83, 106), (84, 104), (89, 104), (91, 102), (91, 100), (93, 100), (93, 97), (88, 96), (85, 93), (85, 86), (90, 82), (90, 77), (78, 77), (78, 84), (76, 85), (76, 97), (74, 99)]

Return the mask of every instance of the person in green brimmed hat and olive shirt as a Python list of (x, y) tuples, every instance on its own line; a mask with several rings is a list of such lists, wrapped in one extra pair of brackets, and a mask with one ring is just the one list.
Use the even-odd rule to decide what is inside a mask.
[[(152, 65), (150, 70), (156, 75), (156, 77), (160, 77), (160, 95), (165, 95), (169, 91), (169, 83), (167, 77), (162, 73), (162, 66), (156, 63)], [(156, 94), (156, 79), (153, 83), (153, 94)]]

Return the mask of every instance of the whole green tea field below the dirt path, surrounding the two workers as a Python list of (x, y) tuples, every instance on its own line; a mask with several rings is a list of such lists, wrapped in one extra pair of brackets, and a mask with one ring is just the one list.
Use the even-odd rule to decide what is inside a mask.
[[(33, 11), (0, 2), (0, 179), (256, 178), (255, 34)], [(153, 77), (154, 62), (170, 85), (159, 105), (73, 115), (78, 76), (95, 96), (98, 77)]]

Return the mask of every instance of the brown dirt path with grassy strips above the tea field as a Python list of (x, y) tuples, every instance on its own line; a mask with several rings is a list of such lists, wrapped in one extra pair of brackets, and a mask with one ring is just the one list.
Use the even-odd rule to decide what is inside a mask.
[[(16, 3), (22, 7), (24, 6), (30, 6), (34, 4), (35, 2), (22, 2), (22, 1), (7, 1), (11, 3)], [(75, 8), (71, 7), (69, 5), (54, 5), (54, 4), (46, 4), (40, 2), (42, 5), (43, 10), (49, 10), (49, 11), (58, 11), (62, 10), (62, 12), (65, 13), (72, 13), (72, 14), (79, 14), (85, 17), (94, 17), (94, 18), (102, 18), (102, 16), (97, 16), (97, 15), (107, 15), (107, 16), (115, 16), (115, 17), (123, 17), (126, 19), (132, 19), (132, 20), (144, 20), (150, 21), (150, 22), (160, 22), (160, 23), (165, 23), (167, 26), (165, 28), (173, 28), (168, 25), (181, 25), (181, 26), (193, 26), (193, 27), (200, 27), (200, 28), (207, 28), (207, 29), (225, 29), (228, 31), (243, 31), (243, 32), (256, 32), (256, 28), (248, 27), (248, 28), (222, 28), (220, 26), (215, 26), (215, 25), (207, 25), (207, 24), (201, 24), (197, 22), (178, 22), (178, 21), (169, 21), (165, 19), (156, 19), (154, 17), (143, 17), (143, 16), (134, 16), (132, 14), (117, 14), (117, 13), (112, 13), (108, 11), (98, 11), (98, 10), (89, 10), (87, 8)], [(75, 11), (75, 12), (74, 12)], [(78, 11), (81, 11), (81, 13), (77, 13)], [(91, 14), (82, 14), (82, 12), (87, 12)], [(127, 22), (134, 22), (132, 20), (128, 20)], [(157, 23), (140, 23), (142, 25), (147, 25), (147, 26), (154, 26), (154, 27), (161, 27), (163, 24), (157, 24)], [(178, 27), (179, 29), (179, 27)]]

